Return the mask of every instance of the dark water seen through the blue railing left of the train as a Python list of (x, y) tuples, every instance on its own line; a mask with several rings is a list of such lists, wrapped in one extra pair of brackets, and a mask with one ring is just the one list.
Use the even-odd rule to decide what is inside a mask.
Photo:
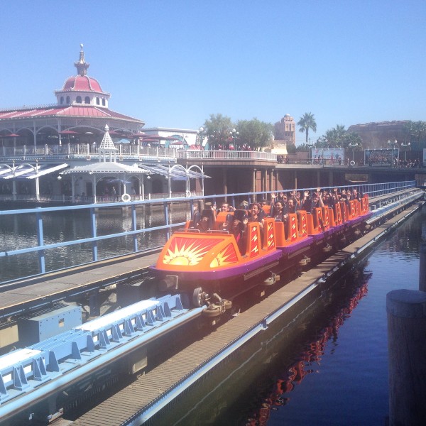
[[(178, 208), (170, 212), (170, 223), (185, 222), (189, 215), (186, 209)], [(44, 244), (55, 244), (92, 237), (88, 210), (67, 212), (46, 212), (43, 217)], [(164, 224), (164, 212), (159, 209), (137, 209), (137, 229), (147, 229)], [(131, 231), (131, 210), (99, 210), (97, 214), (97, 235), (117, 234)], [(0, 221), (0, 251), (26, 249), (37, 246), (35, 214), (5, 215)], [(150, 249), (165, 244), (165, 231), (145, 232), (138, 235), (139, 250)], [(104, 239), (98, 243), (99, 260), (124, 255), (133, 251), (133, 237), (121, 236)], [(45, 250), (46, 271), (80, 265), (92, 261), (92, 244), (63, 246)], [(10, 257), (0, 257), (0, 282), (39, 273), (38, 254), (24, 253)]]

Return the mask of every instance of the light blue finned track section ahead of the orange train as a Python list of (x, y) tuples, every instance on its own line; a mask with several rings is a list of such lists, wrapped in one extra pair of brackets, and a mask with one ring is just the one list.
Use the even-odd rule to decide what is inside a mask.
[(180, 295), (124, 307), (43, 342), (0, 356), (0, 418), (58, 393), (202, 312)]

